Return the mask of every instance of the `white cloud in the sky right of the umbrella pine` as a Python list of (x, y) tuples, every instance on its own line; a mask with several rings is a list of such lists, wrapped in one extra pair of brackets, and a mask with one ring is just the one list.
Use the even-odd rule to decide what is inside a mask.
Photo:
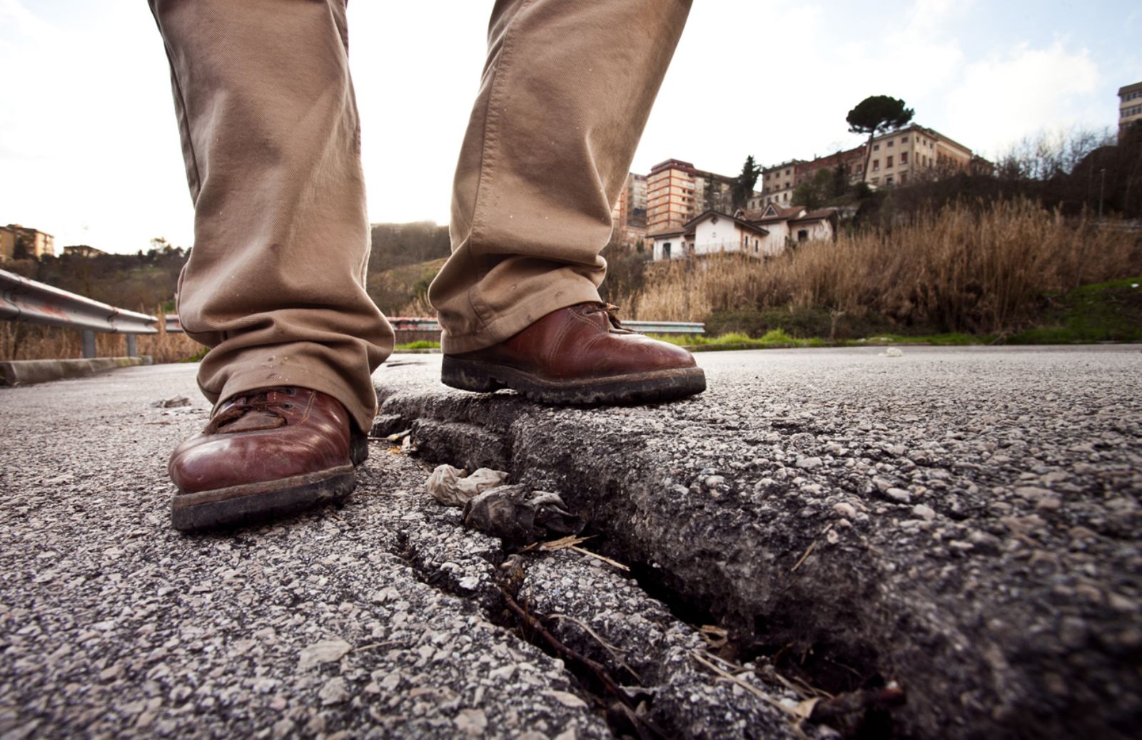
[(1097, 89), (1099, 68), (1086, 49), (1019, 44), (967, 65), (948, 93), (948, 135), (995, 154), (1038, 130), (1094, 125), (1085, 96)]

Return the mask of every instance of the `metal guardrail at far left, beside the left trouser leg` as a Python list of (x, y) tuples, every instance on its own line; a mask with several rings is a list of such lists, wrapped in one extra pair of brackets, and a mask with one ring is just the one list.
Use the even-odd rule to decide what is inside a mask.
[(83, 357), (95, 357), (95, 333), (127, 335), (127, 353), (138, 355), (137, 334), (156, 334), (154, 316), (128, 311), (0, 270), (0, 319), (82, 332)]

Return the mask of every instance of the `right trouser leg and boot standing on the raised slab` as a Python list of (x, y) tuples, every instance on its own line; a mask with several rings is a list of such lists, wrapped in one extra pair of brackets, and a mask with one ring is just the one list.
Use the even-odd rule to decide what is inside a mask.
[[(429, 291), (443, 380), (548, 402), (699, 392), (683, 350), (600, 302), (624, 187), (690, 0), (500, 0), (457, 165), (452, 257)], [(561, 310), (562, 309), (562, 310)]]

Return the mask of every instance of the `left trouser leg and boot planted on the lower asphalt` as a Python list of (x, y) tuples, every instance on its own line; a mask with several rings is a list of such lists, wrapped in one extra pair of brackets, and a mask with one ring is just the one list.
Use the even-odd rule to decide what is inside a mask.
[[(211, 425), (171, 458), (178, 527), (346, 495), (393, 333), (368, 219), (344, 0), (151, 0), (170, 59), (194, 247), (179, 280)], [(270, 390), (281, 389), (281, 390)], [(354, 433), (355, 432), (355, 433)]]

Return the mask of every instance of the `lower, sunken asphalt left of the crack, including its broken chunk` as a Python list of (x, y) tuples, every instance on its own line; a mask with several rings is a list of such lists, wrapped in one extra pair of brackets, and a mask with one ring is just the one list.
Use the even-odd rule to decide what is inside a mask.
[[(150, 404), (193, 398), (193, 369), (0, 391), (5, 740), (614, 735), (562, 660), (500, 626), (499, 540), (387, 445), (371, 442), (344, 506), (171, 530), (167, 456), (208, 407)], [(695, 631), (594, 562), (534, 556), (521, 597), (617, 645), (671, 735), (788, 735), (781, 713), (685, 660)], [(547, 627), (616, 669), (577, 624)]]

